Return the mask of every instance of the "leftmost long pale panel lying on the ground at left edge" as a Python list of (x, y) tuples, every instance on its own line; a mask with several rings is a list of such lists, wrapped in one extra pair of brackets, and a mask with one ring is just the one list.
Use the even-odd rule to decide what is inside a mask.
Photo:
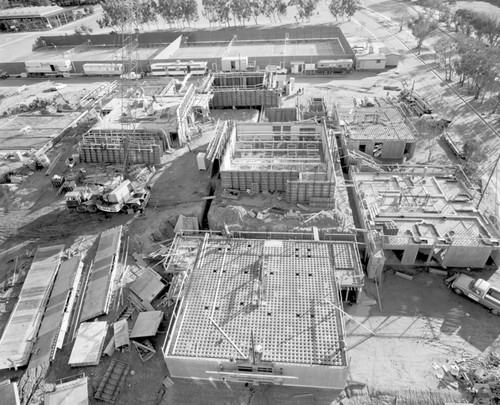
[(0, 370), (28, 363), (64, 245), (38, 249), (0, 340)]

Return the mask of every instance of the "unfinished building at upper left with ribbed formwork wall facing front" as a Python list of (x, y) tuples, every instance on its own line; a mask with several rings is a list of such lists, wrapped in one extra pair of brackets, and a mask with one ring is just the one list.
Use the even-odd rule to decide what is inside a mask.
[(167, 149), (184, 146), (198, 134), (198, 123), (209, 120), (210, 86), (196, 88), (186, 79), (152, 87), (130, 86), (133, 94), (100, 108), (99, 122), (79, 143), (82, 161), (157, 165)]

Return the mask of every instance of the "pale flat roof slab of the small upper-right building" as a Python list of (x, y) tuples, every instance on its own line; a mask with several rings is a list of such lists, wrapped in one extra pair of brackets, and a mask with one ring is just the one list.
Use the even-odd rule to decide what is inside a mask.
[(353, 140), (415, 140), (416, 130), (396, 107), (337, 109), (339, 123)]

